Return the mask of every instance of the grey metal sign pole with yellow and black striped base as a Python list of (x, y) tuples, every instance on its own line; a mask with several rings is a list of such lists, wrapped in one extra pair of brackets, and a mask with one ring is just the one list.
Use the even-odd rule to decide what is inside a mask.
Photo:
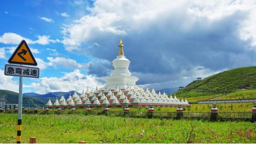
[(21, 141), (21, 119), (22, 119), (22, 76), (19, 76), (19, 111), (18, 111), (18, 125), (17, 125), (17, 144)]

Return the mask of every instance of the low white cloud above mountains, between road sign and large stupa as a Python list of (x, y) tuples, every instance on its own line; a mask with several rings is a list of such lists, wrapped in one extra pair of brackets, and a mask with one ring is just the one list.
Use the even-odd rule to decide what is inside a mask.
[(36, 93), (45, 94), (48, 92), (77, 90), (82, 92), (83, 89), (103, 87), (101, 78), (92, 75), (83, 75), (78, 69), (70, 73), (65, 73), (63, 77), (43, 77), (39, 82), (32, 82), (31, 85), (25, 86), (26, 88), (36, 89)]

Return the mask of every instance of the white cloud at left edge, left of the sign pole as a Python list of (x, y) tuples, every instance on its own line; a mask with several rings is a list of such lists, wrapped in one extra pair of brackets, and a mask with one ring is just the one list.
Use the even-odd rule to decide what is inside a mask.
[(18, 81), (13, 81), (13, 76), (4, 75), (4, 70), (0, 69), (0, 89), (19, 92)]

